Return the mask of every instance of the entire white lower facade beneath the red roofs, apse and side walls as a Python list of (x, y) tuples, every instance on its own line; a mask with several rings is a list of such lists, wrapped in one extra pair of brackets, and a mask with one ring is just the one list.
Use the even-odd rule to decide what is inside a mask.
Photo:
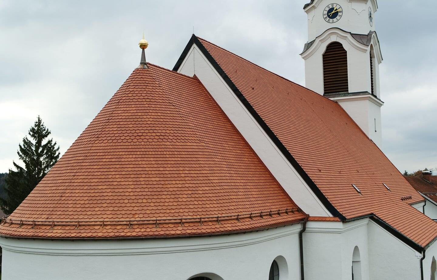
[[(267, 280), (273, 260), (280, 280), (300, 278), (302, 223), (230, 235), (118, 239), (0, 238), (3, 280)], [(420, 280), (422, 254), (368, 218), (308, 222), (303, 234), (306, 280)], [(357, 258), (356, 252), (359, 252)], [(355, 253), (354, 253), (355, 252)], [(426, 251), (430, 279), (437, 246)], [(23, 264), (26, 265), (23, 265)]]

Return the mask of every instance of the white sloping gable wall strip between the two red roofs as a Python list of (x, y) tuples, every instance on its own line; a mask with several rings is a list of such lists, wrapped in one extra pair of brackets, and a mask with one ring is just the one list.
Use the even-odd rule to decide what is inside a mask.
[(189, 76), (195, 74), (198, 77), (276, 180), (305, 213), (330, 216), (328, 210), (195, 45), (178, 72)]

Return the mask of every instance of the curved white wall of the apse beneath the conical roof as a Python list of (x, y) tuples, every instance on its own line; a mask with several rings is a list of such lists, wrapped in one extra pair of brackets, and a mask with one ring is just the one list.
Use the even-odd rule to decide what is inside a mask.
[(142, 240), (0, 238), (2, 280), (187, 280), (201, 273), (212, 280), (266, 280), (277, 256), (286, 260), (278, 260), (280, 280), (299, 279), (301, 227)]

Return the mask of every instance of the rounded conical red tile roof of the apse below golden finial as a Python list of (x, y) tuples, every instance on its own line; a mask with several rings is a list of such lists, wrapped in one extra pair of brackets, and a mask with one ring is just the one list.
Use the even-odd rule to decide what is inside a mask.
[(31, 194), (3, 236), (187, 236), (305, 214), (196, 78), (135, 69)]

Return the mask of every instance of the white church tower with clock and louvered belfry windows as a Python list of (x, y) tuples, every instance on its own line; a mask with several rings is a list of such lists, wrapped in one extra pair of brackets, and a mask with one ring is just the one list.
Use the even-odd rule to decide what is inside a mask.
[(305, 86), (334, 100), (378, 147), (382, 144), (376, 0), (311, 0)]

